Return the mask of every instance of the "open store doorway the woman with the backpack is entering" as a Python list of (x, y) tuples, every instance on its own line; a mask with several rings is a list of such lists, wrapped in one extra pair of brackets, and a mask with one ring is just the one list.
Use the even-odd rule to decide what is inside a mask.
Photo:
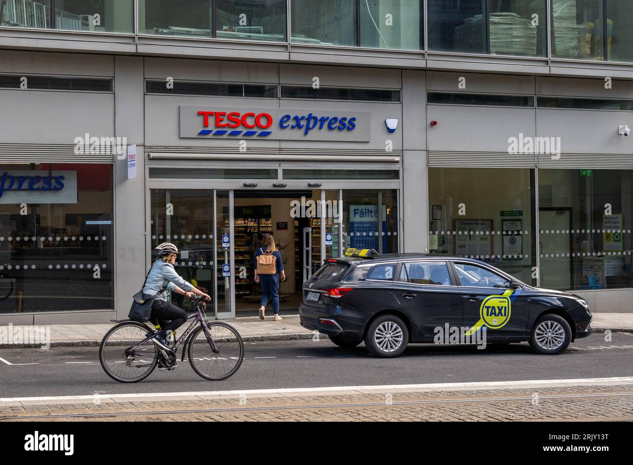
[[(280, 313), (296, 313), (301, 303), (301, 285), (322, 264), (321, 195), (319, 189), (234, 191), (236, 316), (257, 314), (260, 307), (261, 286), (254, 282), (254, 252), (260, 249), (266, 233), (275, 238), (284, 265), (285, 281), (279, 288)], [(324, 213), (326, 218), (332, 216)], [(332, 218), (325, 221), (331, 230)], [(266, 311), (272, 314), (270, 303)]]

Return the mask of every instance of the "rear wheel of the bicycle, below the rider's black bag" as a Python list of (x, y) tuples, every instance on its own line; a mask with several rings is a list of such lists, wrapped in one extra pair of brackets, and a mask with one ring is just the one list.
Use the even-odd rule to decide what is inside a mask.
[(120, 383), (136, 383), (156, 368), (158, 348), (151, 340), (131, 349), (151, 335), (142, 323), (125, 321), (106, 333), (99, 347), (99, 361), (110, 378)]

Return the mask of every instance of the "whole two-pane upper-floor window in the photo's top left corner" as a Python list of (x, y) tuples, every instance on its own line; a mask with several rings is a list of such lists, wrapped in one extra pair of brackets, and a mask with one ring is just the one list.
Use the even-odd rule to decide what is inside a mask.
[(0, 25), (82, 32), (134, 32), (134, 2), (0, 0)]

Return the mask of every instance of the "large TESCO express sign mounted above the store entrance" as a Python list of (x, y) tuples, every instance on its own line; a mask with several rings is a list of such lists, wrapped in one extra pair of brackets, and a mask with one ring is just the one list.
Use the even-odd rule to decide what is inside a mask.
[(180, 137), (368, 142), (371, 113), (180, 106)]

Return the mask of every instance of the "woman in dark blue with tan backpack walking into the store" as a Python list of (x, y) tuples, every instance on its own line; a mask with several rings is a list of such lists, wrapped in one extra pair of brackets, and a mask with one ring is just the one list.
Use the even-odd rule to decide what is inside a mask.
[(255, 282), (261, 285), (260, 319), (264, 319), (264, 312), (268, 301), (272, 300), (275, 321), (281, 321), (279, 316), (279, 276), (285, 281), (284, 264), (281, 261), (281, 253), (275, 247), (275, 238), (272, 234), (265, 234), (261, 239), (261, 247), (255, 251)]

